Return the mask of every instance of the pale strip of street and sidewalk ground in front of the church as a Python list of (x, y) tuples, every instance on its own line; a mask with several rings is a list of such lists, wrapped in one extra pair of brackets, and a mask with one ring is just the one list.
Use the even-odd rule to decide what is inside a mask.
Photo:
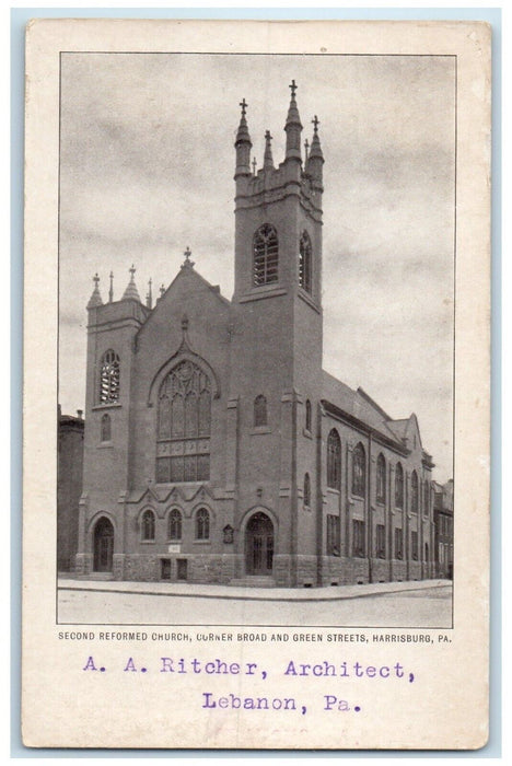
[(389, 627), (452, 626), (446, 580), (338, 588), (248, 589), (59, 579), (59, 624)]

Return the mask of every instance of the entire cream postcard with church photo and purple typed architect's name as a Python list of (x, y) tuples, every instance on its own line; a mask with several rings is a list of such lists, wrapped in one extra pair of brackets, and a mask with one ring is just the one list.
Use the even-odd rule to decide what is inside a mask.
[(28, 24), (25, 745), (486, 744), (490, 45)]

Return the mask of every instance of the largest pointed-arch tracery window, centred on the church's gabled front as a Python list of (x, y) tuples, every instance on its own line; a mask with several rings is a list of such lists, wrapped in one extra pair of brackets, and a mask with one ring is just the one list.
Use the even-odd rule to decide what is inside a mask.
[(197, 364), (183, 361), (159, 395), (156, 481), (210, 478), (211, 384)]

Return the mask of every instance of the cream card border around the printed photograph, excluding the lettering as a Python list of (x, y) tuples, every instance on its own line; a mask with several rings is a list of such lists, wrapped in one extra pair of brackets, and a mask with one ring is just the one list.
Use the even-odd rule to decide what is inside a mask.
[[(59, 640), (56, 428), (60, 51), (456, 56), (455, 582), (453, 629), (433, 643), (237, 641), (184, 646)], [(241, 94), (243, 95), (243, 94)], [(477, 23), (36, 21), (27, 31), (24, 335), (23, 739), (32, 746), (472, 748), (488, 731), (490, 32)], [(206, 140), (210, 140), (208, 137)], [(205, 204), (208, 200), (205, 199)], [(35, 300), (37, 298), (37, 300)], [(176, 626), (174, 626), (176, 627)], [(340, 626), (342, 627), (342, 626)], [(205, 626), (207, 632), (208, 626)], [(80, 626), (86, 630), (86, 626)], [(113, 629), (109, 626), (107, 629)], [(138, 628), (142, 630), (142, 628)], [(97, 636), (98, 626), (95, 626)], [(151, 632), (151, 631), (150, 631)], [(194, 635), (195, 631), (190, 630)], [(201, 631), (202, 632), (202, 631)], [(270, 634), (268, 628), (256, 632)], [(281, 631), (283, 632), (283, 631)], [(318, 628), (310, 634), (326, 632)], [(340, 632), (356, 632), (353, 629)], [(386, 632), (392, 632), (387, 630)], [(407, 631), (402, 631), (407, 632)], [(408, 632), (415, 632), (412, 630)], [(417, 632), (417, 631), (416, 631)], [(205, 680), (124, 673), (162, 655), (254, 662), (216, 693), (293, 696), (307, 713), (205, 710)], [(86, 673), (89, 655), (108, 673)], [(415, 683), (290, 678), (290, 660), (399, 662)], [(114, 669), (117, 668), (117, 671)], [(327, 683), (329, 682), (329, 683)], [(216, 686), (218, 684), (218, 686)], [(323, 710), (324, 695), (351, 711)]]

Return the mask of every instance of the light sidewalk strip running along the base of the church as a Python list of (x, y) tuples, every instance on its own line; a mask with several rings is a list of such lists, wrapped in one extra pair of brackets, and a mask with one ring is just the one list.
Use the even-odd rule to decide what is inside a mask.
[(243, 588), (236, 585), (198, 585), (187, 582), (127, 582), (121, 580), (78, 580), (59, 574), (61, 591), (107, 591), (138, 595), (174, 595), (201, 599), (231, 599), (244, 601), (341, 601), (361, 596), (385, 595), (407, 591), (424, 591), (432, 588), (452, 588), (451, 580), (419, 580), (407, 582), (375, 582), (364, 585), (331, 588)]

